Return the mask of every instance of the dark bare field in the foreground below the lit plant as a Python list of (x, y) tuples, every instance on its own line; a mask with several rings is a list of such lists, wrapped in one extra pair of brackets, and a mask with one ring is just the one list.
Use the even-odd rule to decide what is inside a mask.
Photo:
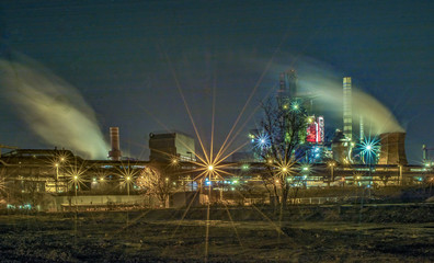
[[(1, 262), (433, 262), (432, 206), (0, 216)], [(279, 220), (282, 219), (282, 220)], [(76, 224), (77, 222), (77, 224)], [(208, 227), (207, 227), (208, 226)], [(207, 238), (208, 236), (208, 238)]]

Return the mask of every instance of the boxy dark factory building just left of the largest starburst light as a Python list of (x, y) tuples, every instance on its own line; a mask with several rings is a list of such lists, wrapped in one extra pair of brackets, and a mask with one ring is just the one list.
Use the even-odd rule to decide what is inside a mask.
[(195, 161), (194, 147), (194, 138), (180, 132), (149, 134), (150, 161)]

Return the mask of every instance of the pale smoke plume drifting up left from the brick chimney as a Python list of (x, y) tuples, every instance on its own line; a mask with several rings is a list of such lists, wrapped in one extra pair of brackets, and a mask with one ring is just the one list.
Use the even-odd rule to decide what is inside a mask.
[(27, 58), (0, 60), (3, 90), (41, 138), (85, 158), (105, 159), (108, 145), (77, 89)]

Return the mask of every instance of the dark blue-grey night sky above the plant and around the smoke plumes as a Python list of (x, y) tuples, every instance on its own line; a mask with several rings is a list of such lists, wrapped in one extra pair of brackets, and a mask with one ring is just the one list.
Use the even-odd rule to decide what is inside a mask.
[[(118, 126), (122, 150), (136, 158), (148, 158), (151, 132), (194, 135), (176, 81), (206, 141), (215, 90), (215, 136), (221, 142), (252, 91), (238, 127), (289, 68), (299, 72), (300, 83), (313, 73), (336, 83), (351, 76), (407, 130), (410, 163), (421, 161), (423, 144), (434, 148), (434, 1), (1, 1), (0, 7), (2, 58), (25, 56), (73, 85), (105, 138), (108, 127)], [(1, 87), (0, 144), (53, 148), (22, 121), (5, 90)], [(342, 128), (341, 107), (322, 108), (329, 130)], [(235, 146), (245, 140), (258, 115)]]

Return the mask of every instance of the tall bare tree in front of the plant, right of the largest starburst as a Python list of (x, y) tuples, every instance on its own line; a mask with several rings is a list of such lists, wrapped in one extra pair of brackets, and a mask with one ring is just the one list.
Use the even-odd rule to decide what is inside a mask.
[(261, 175), (265, 185), (272, 186), (275, 203), (286, 207), (298, 171), (296, 150), (306, 140), (307, 114), (296, 100), (269, 99), (262, 108), (254, 151), (265, 164)]

